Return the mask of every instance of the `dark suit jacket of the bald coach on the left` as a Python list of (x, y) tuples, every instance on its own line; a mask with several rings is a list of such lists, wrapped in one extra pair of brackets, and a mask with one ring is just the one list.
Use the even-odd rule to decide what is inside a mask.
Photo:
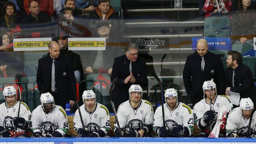
[[(72, 84), (76, 86), (74, 71), (71, 60), (65, 56), (59, 56), (56, 60), (56, 78), (55, 87), (58, 91), (58, 97), (54, 97), (56, 104), (65, 104), (69, 100), (75, 101)], [(51, 59), (50, 54), (38, 60), (37, 85), (40, 95), (51, 91)]]

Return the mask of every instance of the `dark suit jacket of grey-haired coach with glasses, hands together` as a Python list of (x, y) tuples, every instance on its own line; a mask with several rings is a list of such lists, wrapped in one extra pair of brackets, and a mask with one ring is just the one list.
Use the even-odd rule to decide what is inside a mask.
[(132, 62), (132, 74), (135, 77), (135, 83), (130, 81), (127, 84), (124, 84), (124, 79), (130, 76), (129, 70), (130, 60), (127, 59), (126, 55), (119, 56), (115, 58), (111, 81), (118, 77), (115, 87), (113, 89), (112, 100), (118, 106), (128, 99), (129, 93), (128, 90), (132, 84), (145, 86), (147, 84), (147, 68), (145, 59), (138, 57), (137, 61)]

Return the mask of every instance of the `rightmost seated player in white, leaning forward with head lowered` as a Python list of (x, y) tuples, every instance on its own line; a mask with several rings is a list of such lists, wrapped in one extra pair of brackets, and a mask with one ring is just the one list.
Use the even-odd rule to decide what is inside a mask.
[(250, 119), (252, 119), (252, 123), (250, 125), (252, 133), (249, 133), (249, 137), (256, 138), (256, 114), (254, 113), (252, 118), (250, 118), (253, 109), (253, 102), (249, 97), (241, 99), (239, 107), (232, 110), (228, 115), (226, 122), (227, 137), (246, 137), (249, 122)]

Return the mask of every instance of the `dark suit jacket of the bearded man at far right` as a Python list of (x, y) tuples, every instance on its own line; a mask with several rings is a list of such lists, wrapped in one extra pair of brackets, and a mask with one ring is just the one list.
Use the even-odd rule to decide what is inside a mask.
[(238, 65), (235, 70), (234, 84), (232, 86), (233, 69), (227, 68), (226, 71), (226, 87), (230, 87), (230, 91), (238, 92), (240, 98), (250, 97), (253, 103), (256, 103), (256, 88), (253, 83), (252, 71), (247, 65)]

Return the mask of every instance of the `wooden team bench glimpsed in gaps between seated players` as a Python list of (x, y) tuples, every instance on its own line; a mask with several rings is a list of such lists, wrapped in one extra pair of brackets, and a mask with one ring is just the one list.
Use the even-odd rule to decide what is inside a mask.
[[(74, 130), (73, 120), (74, 120), (74, 116), (73, 115), (68, 115), (68, 121), (69, 121), (69, 132), (68, 132), (68, 135), (70, 135), (72, 137), (76, 137), (77, 133), (76, 133), (76, 130)], [(110, 125), (111, 125), (112, 129), (114, 127), (114, 123), (115, 123), (115, 116), (110, 115)], [(197, 135), (200, 131), (201, 130), (198, 129), (197, 126), (194, 124), (193, 134)]]

